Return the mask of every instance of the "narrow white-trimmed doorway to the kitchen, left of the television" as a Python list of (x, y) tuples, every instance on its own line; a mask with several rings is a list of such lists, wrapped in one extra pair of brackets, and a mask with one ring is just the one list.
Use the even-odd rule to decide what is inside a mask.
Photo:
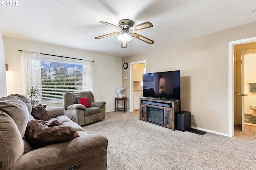
[[(141, 65), (144, 67), (141, 68)], [(139, 66), (139, 69), (135, 69), (134, 66)], [(130, 63), (130, 111), (134, 111), (134, 102), (139, 104), (139, 97), (142, 93), (142, 78), (138, 78), (137, 73), (141, 76), (143, 73), (146, 73), (146, 60)], [(141, 87), (141, 90), (139, 90), (137, 87)], [(138, 94), (136, 94), (136, 100), (134, 100), (134, 90), (138, 91)]]

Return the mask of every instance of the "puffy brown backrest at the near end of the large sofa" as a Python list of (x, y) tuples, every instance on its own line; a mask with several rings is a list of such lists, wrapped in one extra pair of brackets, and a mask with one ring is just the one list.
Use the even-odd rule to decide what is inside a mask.
[(24, 152), (22, 137), (28, 122), (28, 107), (14, 97), (0, 99), (0, 166), (10, 169)]

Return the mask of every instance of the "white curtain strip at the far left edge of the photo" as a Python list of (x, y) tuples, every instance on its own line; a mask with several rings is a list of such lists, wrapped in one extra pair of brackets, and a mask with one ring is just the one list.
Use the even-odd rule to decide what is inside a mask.
[(0, 32), (0, 98), (6, 96), (6, 76), (5, 76), (5, 58), (4, 58), (4, 42), (2, 33)]

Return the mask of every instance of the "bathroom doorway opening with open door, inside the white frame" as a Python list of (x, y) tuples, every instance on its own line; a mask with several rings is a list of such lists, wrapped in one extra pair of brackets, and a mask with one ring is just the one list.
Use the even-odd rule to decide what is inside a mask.
[(234, 45), (234, 61), (234, 124), (244, 131), (256, 125), (256, 42)]

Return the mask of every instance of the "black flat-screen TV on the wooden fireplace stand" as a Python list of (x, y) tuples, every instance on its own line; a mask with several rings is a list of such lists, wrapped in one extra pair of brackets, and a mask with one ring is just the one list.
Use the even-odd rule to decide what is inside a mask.
[(143, 74), (143, 97), (180, 100), (180, 70)]

